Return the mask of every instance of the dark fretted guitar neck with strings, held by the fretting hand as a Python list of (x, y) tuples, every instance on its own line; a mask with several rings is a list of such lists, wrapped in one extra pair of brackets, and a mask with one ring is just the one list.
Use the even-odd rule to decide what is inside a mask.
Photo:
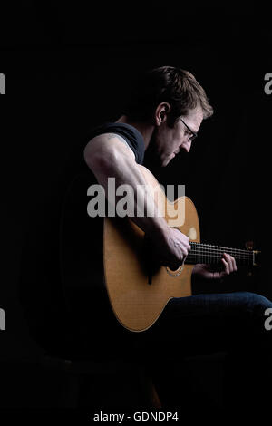
[(238, 265), (256, 265), (257, 252), (254, 250), (212, 246), (210, 244), (202, 244), (190, 242), (190, 250), (185, 263), (188, 264), (217, 264), (221, 262), (223, 253), (235, 257)]

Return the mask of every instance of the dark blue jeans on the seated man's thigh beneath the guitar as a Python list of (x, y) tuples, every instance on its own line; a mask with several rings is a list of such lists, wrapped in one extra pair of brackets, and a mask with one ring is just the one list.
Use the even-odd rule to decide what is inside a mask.
[(173, 298), (157, 322), (139, 338), (173, 342), (200, 334), (204, 341), (217, 338), (219, 346), (232, 344), (235, 338), (237, 343), (248, 337), (269, 341), (272, 330), (265, 327), (267, 308), (272, 308), (267, 297), (250, 292)]

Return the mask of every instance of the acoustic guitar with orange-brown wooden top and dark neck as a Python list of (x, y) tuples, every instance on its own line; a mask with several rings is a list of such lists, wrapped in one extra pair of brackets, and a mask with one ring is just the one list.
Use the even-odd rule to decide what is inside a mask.
[[(100, 218), (101, 242), (94, 242), (92, 230), (86, 228), (93, 218), (86, 219), (83, 225), (79, 201), (74, 198), (73, 191), (69, 195), (68, 209), (67, 205), (65, 207), (61, 233), (65, 293), (70, 294), (73, 302), (75, 295), (82, 294), (83, 303), (102, 286), (115, 317), (131, 332), (150, 328), (172, 297), (192, 295), (191, 273), (195, 264), (220, 263), (223, 253), (228, 253), (235, 257), (238, 265), (257, 266), (260, 254), (253, 249), (200, 243), (199, 217), (193, 202), (185, 196), (170, 202), (151, 171), (141, 165), (138, 167), (147, 184), (154, 189), (156, 204), (165, 207), (165, 220), (170, 223), (175, 211), (182, 212), (181, 225), (176, 228), (189, 237), (191, 247), (182, 266), (171, 270), (156, 262), (145, 233), (130, 218)], [(77, 187), (82, 191), (86, 215), (86, 182), (84, 186), (83, 181), (78, 181)], [(95, 249), (88, 252), (90, 244)], [(88, 295), (86, 288), (90, 290)], [(99, 301), (95, 303), (99, 304)]]

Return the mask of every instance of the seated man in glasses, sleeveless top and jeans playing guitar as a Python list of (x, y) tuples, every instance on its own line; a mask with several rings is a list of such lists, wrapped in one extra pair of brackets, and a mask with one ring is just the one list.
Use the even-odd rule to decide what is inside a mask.
[[(146, 197), (142, 189), (146, 182), (137, 163), (142, 163), (147, 150), (161, 167), (169, 165), (180, 150), (189, 153), (202, 121), (212, 113), (205, 91), (191, 73), (163, 66), (143, 74), (129, 93), (121, 117), (94, 129), (84, 150), (85, 162), (105, 193), (108, 178), (113, 177), (116, 187), (131, 185), (145, 211), (154, 208), (152, 217), (135, 215), (131, 220), (150, 238), (161, 265), (171, 269), (178, 268), (188, 256), (189, 237), (170, 228), (158, 215), (151, 194)], [(131, 196), (129, 202), (133, 201)], [(193, 269), (193, 279), (221, 283), (236, 270), (235, 258), (224, 254), (218, 271), (199, 264)], [(266, 334), (264, 315), (271, 307), (267, 298), (248, 292), (175, 298), (149, 330), (135, 336), (135, 341), (144, 343), (145, 349), (153, 349), (154, 358), (162, 353), (171, 358), (177, 352), (179, 357), (178, 347), (201, 353), (208, 342), (217, 350), (232, 344), (235, 352), (241, 342), (250, 344), (253, 336), (258, 339)]]

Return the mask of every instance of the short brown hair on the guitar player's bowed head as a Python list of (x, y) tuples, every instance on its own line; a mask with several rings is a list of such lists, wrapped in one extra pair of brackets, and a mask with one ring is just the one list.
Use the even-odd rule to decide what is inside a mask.
[(150, 121), (160, 102), (170, 103), (169, 125), (200, 106), (203, 118), (213, 114), (204, 89), (189, 71), (173, 66), (154, 68), (134, 81), (122, 113), (133, 121)]

